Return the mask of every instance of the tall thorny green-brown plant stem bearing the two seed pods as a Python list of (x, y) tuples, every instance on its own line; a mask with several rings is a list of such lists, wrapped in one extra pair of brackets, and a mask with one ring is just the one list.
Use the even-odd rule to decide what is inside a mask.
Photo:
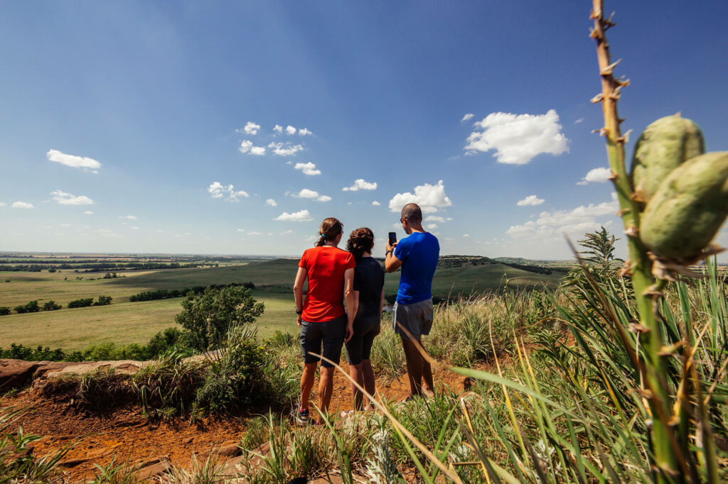
[(600, 133), (606, 137), (612, 182), (617, 192), (625, 233), (628, 235), (628, 262), (641, 324), (639, 339), (644, 347), (644, 359), (641, 360), (644, 368), (641, 368), (641, 371), (646, 376), (645, 393), (652, 413), (650, 443), (654, 454), (654, 465), (657, 467), (655, 478), (659, 483), (667, 483), (674, 479), (680, 480), (680, 470), (685, 470), (683, 467), (685, 459), (680, 459), (678, 455), (687, 449), (678, 447), (675, 432), (669, 424), (672, 405), (668, 395), (665, 358), (660, 356), (663, 341), (662, 326), (652, 310), (652, 296), (645, 294), (655, 280), (652, 277), (652, 261), (647, 257), (647, 251), (639, 240), (639, 210), (633, 199), (633, 186), (625, 164), (626, 137), (622, 136), (620, 130), (622, 120), (617, 115), (620, 91), (629, 84), (629, 81), (617, 79), (613, 74), (614, 66), (619, 61), (612, 64), (609, 55), (609, 43), (605, 32), (614, 23), (604, 17), (604, 0), (593, 0), (591, 17), (594, 20), (591, 37), (596, 40), (602, 87), (601, 94), (598, 94), (593, 102), (601, 102), (604, 111), (604, 128)]

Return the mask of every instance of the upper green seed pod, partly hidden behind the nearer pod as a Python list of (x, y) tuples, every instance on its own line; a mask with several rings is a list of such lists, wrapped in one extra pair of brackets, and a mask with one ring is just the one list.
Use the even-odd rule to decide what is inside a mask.
[(638, 201), (649, 201), (662, 180), (678, 166), (705, 153), (703, 133), (693, 121), (665, 116), (647, 126), (632, 157), (632, 183)]

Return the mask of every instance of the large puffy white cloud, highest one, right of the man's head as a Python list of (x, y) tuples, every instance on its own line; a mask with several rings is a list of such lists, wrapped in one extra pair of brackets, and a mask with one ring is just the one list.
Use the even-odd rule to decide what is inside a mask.
[(464, 150), (496, 150), (498, 163), (523, 165), (541, 153), (561, 155), (569, 150), (553, 109), (541, 115), (491, 113), (475, 122), (475, 129), (483, 131), (470, 133)]

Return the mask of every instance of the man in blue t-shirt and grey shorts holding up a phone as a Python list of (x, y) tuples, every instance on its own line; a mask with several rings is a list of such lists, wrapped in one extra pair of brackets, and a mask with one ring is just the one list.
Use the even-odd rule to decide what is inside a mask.
[(432, 276), (438, 267), (440, 243), (435, 235), (422, 228), (419, 205), (408, 203), (400, 215), (400, 223), (408, 236), (393, 245), (387, 241), (384, 254), (384, 268), (388, 273), (402, 267), (392, 324), (402, 339), (411, 396), (432, 396), (435, 395), (432, 368), (418, 346), (422, 347), (420, 338), (430, 334), (432, 328)]

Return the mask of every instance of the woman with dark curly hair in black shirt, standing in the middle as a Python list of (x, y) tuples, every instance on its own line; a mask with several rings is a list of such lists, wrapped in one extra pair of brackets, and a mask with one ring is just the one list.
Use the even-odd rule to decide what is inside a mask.
[[(371, 368), (371, 346), (379, 334), (381, 310), (384, 305), (384, 269), (373, 257), (374, 234), (366, 227), (358, 228), (349, 235), (347, 250), (354, 254), (354, 298), (359, 306), (354, 318), (354, 336), (347, 342), (349, 375), (369, 395), (374, 395), (374, 372)], [(363, 407), (364, 395), (352, 384), (354, 410)], [(371, 405), (371, 403), (370, 403)]]

